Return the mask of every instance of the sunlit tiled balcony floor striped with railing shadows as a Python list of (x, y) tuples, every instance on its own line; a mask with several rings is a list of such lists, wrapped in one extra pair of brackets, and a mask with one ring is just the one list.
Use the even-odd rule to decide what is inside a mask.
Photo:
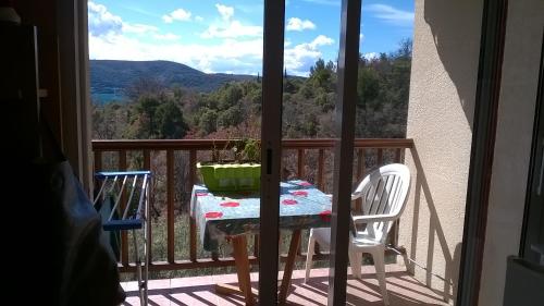
[[(418, 282), (403, 266), (387, 265), (387, 291), (392, 306), (448, 305), (442, 295)], [(313, 269), (310, 281), (304, 283), (304, 271), (293, 273), (288, 305), (326, 305), (329, 269)], [(363, 267), (362, 280), (348, 276), (346, 305), (382, 306), (382, 297), (372, 266)], [(251, 273), (256, 281), (257, 273)], [(244, 305), (237, 295), (217, 295), (218, 282), (236, 283), (236, 274), (209, 276), (149, 281), (149, 305)], [(139, 305), (136, 282), (122, 283), (127, 298), (124, 305)], [(254, 287), (257, 287), (254, 282)]]

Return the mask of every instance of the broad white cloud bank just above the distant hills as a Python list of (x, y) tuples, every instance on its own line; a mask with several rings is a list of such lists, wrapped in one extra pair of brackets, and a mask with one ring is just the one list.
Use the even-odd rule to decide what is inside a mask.
[[(228, 14), (227, 14), (228, 15)], [(262, 69), (262, 27), (223, 19), (223, 26), (210, 26), (206, 44), (185, 42), (157, 27), (128, 24), (104, 5), (89, 2), (89, 57), (110, 60), (166, 60), (187, 64), (203, 72), (257, 74)], [(90, 23), (92, 17), (92, 23)], [(196, 16), (195, 16), (196, 20)], [(135, 35), (136, 34), (136, 35)], [(295, 45), (285, 42), (285, 68), (289, 74), (308, 75), (309, 68), (322, 57), (321, 47), (334, 44), (324, 35)]]

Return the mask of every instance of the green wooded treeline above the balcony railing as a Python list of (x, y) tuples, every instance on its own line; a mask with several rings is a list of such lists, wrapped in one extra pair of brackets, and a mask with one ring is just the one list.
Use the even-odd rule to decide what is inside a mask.
[[(357, 137), (405, 137), (411, 40), (378, 58), (359, 59)], [(283, 133), (331, 137), (336, 66), (318, 60), (307, 78), (284, 76)], [(261, 79), (231, 82), (210, 93), (140, 77), (124, 91), (128, 102), (95, 105), (92, 136), (114, 138), (237, 138), (260, 135)]]

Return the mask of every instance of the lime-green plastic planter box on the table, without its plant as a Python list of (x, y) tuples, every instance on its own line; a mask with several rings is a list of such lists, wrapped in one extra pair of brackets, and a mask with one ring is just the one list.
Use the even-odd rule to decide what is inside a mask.
[(261, 187), (260, 163), (197, 163), (210, 192), (258, 191)]

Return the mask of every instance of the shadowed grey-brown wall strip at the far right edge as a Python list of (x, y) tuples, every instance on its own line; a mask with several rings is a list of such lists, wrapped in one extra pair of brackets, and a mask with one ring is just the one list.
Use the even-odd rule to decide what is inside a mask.
[(480, 303), (503, 305), (506, 257), (517, 255), (539, 81), (544, 1), (508, 1), (503, 78)]

